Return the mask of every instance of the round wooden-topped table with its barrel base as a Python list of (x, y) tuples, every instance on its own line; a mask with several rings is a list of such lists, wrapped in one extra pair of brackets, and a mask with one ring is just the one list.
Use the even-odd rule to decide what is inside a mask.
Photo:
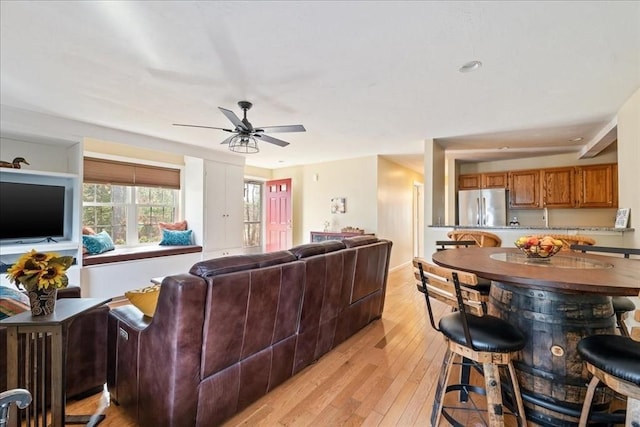
[[(526, 345), (514, 365), (527, 421), (577, 423), (589, 381), (577, 344), (589, 335), (616, 333), (611, 297), (638, 296), (640, 260), (572, 251), (532, 259), (505, 247), (444, 250), (432, 260), (490, 280), (488, 314), (524, 333)], [(591, 420), (619, 422), (610, 414), (610, 393), (598, 393)]]

